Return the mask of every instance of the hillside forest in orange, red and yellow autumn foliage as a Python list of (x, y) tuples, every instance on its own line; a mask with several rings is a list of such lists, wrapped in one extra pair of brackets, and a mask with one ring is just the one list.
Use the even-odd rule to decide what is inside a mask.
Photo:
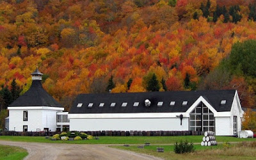
[(236, 89), (256, 108), (255, 20), (255, 0), (2, 0), (1, 108), (36, 65), (67, 111), (109, 90)]

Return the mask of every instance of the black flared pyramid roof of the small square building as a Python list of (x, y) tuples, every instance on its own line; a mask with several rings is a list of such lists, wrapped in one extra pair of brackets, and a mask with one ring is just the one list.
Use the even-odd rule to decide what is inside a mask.
[(42, 87), (41, 81), (33, 81), (29, 90), (15, 100), (10, 107), (48, 106), (61, 108), (61, 104), (52, 98)]

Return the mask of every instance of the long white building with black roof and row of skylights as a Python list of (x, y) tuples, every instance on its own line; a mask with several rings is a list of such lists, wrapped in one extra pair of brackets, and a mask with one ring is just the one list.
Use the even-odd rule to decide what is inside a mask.
[(214, 131), (236, 136), (243, 110), (236, 90), (78, 95), (70, 131)]

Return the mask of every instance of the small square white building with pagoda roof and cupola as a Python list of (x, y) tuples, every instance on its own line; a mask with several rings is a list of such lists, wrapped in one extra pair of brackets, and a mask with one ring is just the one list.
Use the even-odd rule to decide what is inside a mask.
[[(15, 100), (9, 109), (9, 131), (56, 131), (57, 114), (64, 108), (42, 87), (42, 73), (36, 68), (29, 90)], [(65, 113), (64, 113), (65, 114)], [(66, 114), (67, 115), (67, 114)]]

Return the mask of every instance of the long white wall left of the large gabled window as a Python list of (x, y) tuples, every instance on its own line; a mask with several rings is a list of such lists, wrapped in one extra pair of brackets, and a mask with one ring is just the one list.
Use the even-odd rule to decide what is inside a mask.
[(188, 118), (70, 119), (70, 131), (188, 131)]

